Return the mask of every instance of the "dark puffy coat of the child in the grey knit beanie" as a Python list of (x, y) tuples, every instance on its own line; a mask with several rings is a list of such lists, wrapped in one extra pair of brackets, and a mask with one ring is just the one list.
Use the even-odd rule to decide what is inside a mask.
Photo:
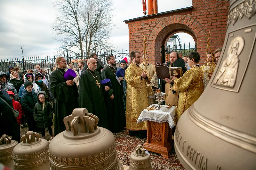
[(28, 92), (26, 89), (22, 92), (22, 96), (20, 98), (20, 103), (22, 110), (25, 113), (26, 119), (30, 121), (33, 120), (33, 109), (37, 103), (36, 93), (34, 91)]

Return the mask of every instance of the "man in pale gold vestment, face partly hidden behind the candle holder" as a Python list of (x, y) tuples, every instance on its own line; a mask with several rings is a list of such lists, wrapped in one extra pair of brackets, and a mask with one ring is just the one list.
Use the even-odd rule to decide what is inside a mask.
[[(142, 55), (143, 60), (146, 60), (146, 55), (144, 56), (144, 54)], [(145, 70), (145, 66), (143, 65), (143, 63), (141, 63), (139, 65), (143, 70)], [(148, 65), (146, 66), (146, 70), (148, 73), (148, 77), (150, 78), (150, 84), (147, 83), (147, 91), (148, 91), (148, 105), (150, 106), (151, 104), (155, 104), (156, 100), (154, 97), (154, 91), (158, 89), (158, 80), (157, 80), (157, 75), (156, 75), (156, 66), (148, 63)]]

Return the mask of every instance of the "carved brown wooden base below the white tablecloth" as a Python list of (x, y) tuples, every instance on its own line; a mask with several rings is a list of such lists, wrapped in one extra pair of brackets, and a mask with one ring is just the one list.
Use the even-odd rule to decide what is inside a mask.
[(169, 123), (148, 121), (147, 142), (143, 145), (151, 152), (160, 153), (163, 158), (170, 158), (172, 129)]

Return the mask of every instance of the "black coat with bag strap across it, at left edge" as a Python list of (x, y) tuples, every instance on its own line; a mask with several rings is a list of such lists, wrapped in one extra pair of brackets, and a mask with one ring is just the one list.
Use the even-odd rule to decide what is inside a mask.
[[(12, 100), (6, 90), (0, 90), (0, 97), (4, 99), (12, 108)], [(0, 136), (7, 134), (12, 138), (20, 138), (20, 126), (14, 117), (12, 110), (7, 106), (4, 101), (0, 100)], [(20, 142), (20, 141), (18, 141)]]

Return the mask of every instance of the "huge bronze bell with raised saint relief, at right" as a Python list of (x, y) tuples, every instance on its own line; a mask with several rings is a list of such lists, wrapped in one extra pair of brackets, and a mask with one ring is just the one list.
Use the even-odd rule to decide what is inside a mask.
[(230, 0), (218, 64), (176, 126), (174, 147), (186, 169), (256, 169), (255, 5)]

